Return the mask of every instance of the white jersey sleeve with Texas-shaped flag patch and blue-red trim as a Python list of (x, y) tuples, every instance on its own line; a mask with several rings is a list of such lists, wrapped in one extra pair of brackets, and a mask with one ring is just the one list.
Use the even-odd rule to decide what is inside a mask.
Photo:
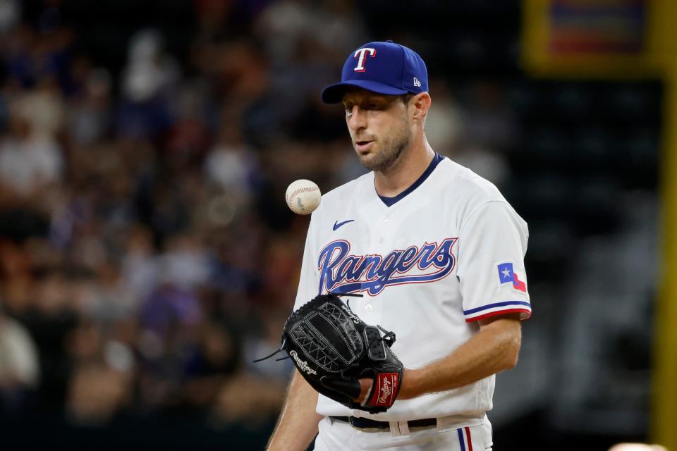
[(502, 201), (482, 204), (461, 224), (456, 275), (466, 322), (531, 316), (524, 267), (528, 234), (527, 223)]

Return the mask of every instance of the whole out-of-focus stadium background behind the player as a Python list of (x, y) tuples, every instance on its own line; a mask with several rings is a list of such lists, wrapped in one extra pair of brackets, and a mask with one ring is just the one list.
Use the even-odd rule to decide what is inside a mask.
[(671, 0), (0, 0), (0, 449), (263, 449), (292, 366), (252, 359), (279, 346), (308, 224), (283, 193), (363, 173), (319, 92), (383, 39), (427, 62), (434, 149), (530, 226), (535, 313), (494, 449), (675, 446), (669, 18)]

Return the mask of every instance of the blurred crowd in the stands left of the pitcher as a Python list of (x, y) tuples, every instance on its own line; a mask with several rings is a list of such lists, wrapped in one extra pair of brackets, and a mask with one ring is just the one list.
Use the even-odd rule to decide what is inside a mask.
[(156, 30), (111, 74), (73, 51), (56, 8), (1, 25), (5, 414), (279, 412), (291, 366), (251, 364), (279, 345), (298, 282), (304, 223), (279, 192), (343, 159), (311, 152), (326, 130), (307, 124), (324, 122), (309, 99), (346, 49), (304, 51), (313, 30), (288, 31), (322, 23), (293, 5), (252, 12), (256, 42), (224, 39), (219, 6), (195, 2), (188, 70)]

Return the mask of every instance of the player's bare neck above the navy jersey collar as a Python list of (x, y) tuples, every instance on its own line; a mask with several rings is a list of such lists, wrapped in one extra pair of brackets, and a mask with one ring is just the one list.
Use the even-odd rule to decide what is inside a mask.
[(400, 194), (425, 172), (434, 156), (435, 152), (424, 137), (408, 149), (408, 152), (403, 152), (386, 171), (374, 172), (376, 192), (384, 197)]

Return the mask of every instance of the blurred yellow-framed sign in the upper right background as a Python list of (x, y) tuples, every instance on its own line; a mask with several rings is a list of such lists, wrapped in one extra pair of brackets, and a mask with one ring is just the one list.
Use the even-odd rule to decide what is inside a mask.
[(558, 78), (657, 77), (666, 1), (524, 0), (523, 66)]

